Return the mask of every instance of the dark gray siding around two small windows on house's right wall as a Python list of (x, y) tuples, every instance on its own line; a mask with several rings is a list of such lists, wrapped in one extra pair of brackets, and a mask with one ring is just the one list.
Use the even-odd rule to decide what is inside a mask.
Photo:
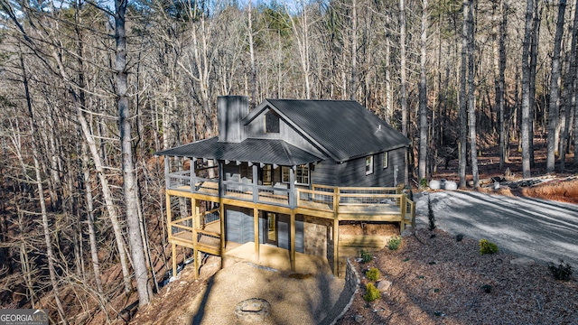
[(342, 163), (340, 186), (396, 186), (394, 173), (397, 166), (397, 183), (404, 181), (404, 161), (406, 148), (388, 152), (388, 166), (384, 168), (383, 153), (373, 155), (373, 173), (365, 173), (365, 157)]

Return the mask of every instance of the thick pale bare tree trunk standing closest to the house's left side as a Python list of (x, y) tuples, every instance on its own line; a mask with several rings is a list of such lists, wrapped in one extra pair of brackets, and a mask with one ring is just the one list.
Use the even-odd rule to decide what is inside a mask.
[(133, 163), (131, 125), (129, 120), (128, 98), (126, 98), (126, 30), (125, 30), (125, 0), (115, 1), (115, 39), (116, 74), (117, 74), (117, 106), (118, 125), (120, 129), (120, 144), (122, 152), (123, 192), (125, 195), (126, 224), (128, 226), (128, 242), (130, 245), (135, 270), (136, 287), (138, 290), (138, 305), (144, 306), (151, 300), (153, 291), (148, 283), (148, 272), (144, 258), (143, 240), (138, 218), (138, 201), (136, 199), (135, 168)]

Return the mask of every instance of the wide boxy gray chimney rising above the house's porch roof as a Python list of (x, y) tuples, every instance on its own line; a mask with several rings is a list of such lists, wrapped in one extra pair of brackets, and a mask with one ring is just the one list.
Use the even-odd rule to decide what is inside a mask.
[(247, 96), (219, 96), (217, 98), (219, 142), (239, 143), (245, 140), (243, 118), (248, 114)]

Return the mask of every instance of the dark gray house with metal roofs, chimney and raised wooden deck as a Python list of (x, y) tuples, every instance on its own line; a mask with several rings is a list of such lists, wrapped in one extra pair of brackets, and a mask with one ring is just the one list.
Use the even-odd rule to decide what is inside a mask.
[(410, 141), (358, 102), (266, 99), (249, 111), (247, 97), (226, 96), (218, 119), (219, 136), (156, 153), (173, 272), (176, 246), (225, 259), (248, 245), (256, 261), (275, 247), (292, 269), (313, 255), (337, 274), (340, 222), (412, 222), (414, 202), (396, 187)]

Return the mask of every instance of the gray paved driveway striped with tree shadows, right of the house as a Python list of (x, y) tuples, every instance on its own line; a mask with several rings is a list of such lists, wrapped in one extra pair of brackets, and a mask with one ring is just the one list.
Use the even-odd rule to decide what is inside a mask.
[(427, 198), (436, 226), (451, 234), (486, 238), (500, 251), (524, 255), (536, 262), (561, 258), (578, 269), (578, 205), (532, 198), (489, 195), (475, 191), (420, 193), (416, 222), (427, 225)]

